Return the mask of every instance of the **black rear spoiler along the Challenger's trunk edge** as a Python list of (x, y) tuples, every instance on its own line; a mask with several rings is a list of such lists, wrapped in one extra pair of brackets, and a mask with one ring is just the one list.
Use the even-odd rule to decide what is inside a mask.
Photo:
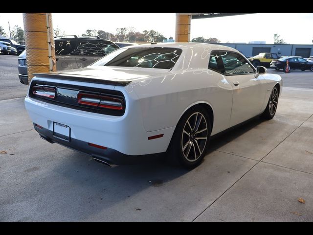
[(123, 86), (130, 84), (132, 81), (130, 80), (119, 80), (112, 78), (101, 78), (96, 76), (88, 76), (88, 75), (72, 75), (72, 74), (63, 74), (63, 73), (34, 73), (36, 77), (42, 78), (53, 78), (53, 79), (63, 79), (63, 80), (71, 80), (71, 81), (80, 81), (80, 82), (91, 82), (105, 85), (113, 85), (113, 86)]

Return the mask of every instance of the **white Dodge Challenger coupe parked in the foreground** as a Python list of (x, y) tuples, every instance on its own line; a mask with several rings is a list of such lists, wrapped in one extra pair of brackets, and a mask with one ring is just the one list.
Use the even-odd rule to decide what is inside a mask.
[(132, 164), (169, 152), (201, 163), (210, 136), (258, 115), (273, 118), (282, 79), (220, 45), (124, 47), (92, 65), (37, 73), (25, 107), (51, 143), (104, 164)]

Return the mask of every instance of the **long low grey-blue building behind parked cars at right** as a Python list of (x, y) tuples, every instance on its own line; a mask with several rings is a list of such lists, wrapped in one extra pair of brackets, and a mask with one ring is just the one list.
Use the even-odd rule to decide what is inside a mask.
[(304, 58), (313, 56), (313, 45), (303, 44), (255, 44), (255, 43), (219, 43), (239, 50), (245, 56), (255, 56), (261, 52), (277, 53), (278, 56), (297, 55)]

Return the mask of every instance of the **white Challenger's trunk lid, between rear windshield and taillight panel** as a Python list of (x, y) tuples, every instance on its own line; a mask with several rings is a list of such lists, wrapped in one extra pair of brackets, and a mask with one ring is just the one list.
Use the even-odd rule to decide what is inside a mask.
[(35, 73), (35, 76), (126, 86), (134, 80), (167, 74), (168, 71), (150, 68), (88, 66), (62, 72)]

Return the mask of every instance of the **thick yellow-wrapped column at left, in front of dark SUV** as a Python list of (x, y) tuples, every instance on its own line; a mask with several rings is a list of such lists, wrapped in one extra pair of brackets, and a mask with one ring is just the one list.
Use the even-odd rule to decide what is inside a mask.
[(36, 72), (56, 71), (51, 13), (23, 13), (28, 83)]

